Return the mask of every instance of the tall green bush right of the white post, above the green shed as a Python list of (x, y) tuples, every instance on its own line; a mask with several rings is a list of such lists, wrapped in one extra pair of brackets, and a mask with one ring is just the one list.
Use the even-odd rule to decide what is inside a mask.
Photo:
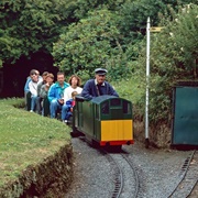
[[(177, 80), (197, 80), (197, 13), (198, 6), (188, 4), (162, 21), (165, 28), (161, 33), (151, 35), (150, 116), (153, 122), (170, 122), (172, 87)], [(145, 66), (145, 50), (139, 63)]]

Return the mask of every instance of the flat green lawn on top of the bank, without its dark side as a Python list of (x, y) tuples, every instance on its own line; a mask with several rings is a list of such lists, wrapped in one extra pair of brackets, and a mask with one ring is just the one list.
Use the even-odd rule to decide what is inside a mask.
[(0, 191), (29, 165), (42, 162), (70, 141), (65, 124), (13, 107), (22, 103), (23, 99), (0, 100)]

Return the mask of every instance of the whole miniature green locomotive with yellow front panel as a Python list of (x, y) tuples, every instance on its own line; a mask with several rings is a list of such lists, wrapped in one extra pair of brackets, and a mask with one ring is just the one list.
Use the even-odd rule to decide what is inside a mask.
[(132, 103), (114, 96), (99, 96), (92, 100), (76, 97), (73, 112), (73, 132), (82, 133), (100, 146), (121, 147), (133, 144)]

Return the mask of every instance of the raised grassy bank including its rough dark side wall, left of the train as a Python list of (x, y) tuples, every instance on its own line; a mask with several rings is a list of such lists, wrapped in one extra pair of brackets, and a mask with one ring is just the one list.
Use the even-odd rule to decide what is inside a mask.
[(0, 100), (0, 197), (57, 196), (73, 176), (69, 129), (22, 107)]

